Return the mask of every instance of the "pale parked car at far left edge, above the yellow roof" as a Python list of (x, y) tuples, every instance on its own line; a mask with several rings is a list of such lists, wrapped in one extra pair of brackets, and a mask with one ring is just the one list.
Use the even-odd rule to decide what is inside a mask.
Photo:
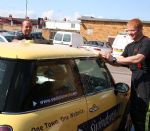
[(0, 33), (0, 42), (12, 42), (14, 37), (14, 35), (11, 35), (9, 33)]

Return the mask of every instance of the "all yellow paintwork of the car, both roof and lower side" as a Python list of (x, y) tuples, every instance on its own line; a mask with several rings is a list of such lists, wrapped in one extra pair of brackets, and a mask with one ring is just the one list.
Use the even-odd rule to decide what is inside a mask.
[[(73, 47), (43, 45), (28, 42), (0, 44), (0, 57), (12, 59), (55, 59), (93, 57), (96, 54)], [(114, 90), (97, 93), (93, 96), (78, 98), (69, 102), (42, 108), (34, 112), (19, 114), (0, 114), (0, 125), (10, 125), (13, 131), (77, 131), (78, 125), (100, 115), (118, 103), (124, 103), (120, 114), (125, 109), (122, 95), (115, 95)], [(93, 103), (99, 107), (96, 112), (89, 112)], [(105, 131), (117, 129), (120, 119), (108, 126)], [(72, 124), (73, 123), (73, 124)]]

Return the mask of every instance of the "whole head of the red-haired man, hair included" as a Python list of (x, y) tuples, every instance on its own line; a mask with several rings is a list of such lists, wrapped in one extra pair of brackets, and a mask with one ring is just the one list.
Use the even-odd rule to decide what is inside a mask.
[(131, 39), (138, 41), (143, 36), (143, 23), (139, 19), (132, 19), (127, 23), (127, 32)]

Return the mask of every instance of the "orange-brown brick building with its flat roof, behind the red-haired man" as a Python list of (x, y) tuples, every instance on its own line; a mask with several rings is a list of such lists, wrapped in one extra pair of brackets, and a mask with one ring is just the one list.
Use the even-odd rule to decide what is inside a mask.
[[(115, 37), (117, 33), (123, 32), (126, 28), (127, 20), (121, 19), (99, 19), (82, 16), (80, 33), (86, 40), (107, 41), (110, 37)], [(144, 34), (150, 37), (150, 21), (143, 21)]]

